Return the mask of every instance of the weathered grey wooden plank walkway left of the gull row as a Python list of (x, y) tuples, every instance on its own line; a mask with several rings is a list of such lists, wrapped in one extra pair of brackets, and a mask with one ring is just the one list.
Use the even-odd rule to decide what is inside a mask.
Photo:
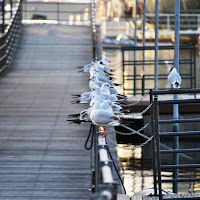
[(66, 122), (87, 105), (76, 66), (92, 60), (89, 27), (26, 25), (11, 70), (0, 78), (0, 200), (90, 197), (89, 124)]

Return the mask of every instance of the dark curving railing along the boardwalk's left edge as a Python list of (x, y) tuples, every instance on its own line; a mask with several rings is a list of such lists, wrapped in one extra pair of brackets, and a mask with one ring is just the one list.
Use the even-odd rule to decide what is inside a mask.
[[(4, 10), (4, 9), (3, 9)], [(8, 68), (15, 55), (21, 33), (22, 1), (18, 1), (12, 9), (12, 17), (8, 24), (2, 23), (0, 36), (0, 72)]]

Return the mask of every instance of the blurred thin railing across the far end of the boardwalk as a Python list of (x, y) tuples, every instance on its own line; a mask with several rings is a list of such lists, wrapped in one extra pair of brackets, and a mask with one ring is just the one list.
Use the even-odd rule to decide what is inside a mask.
[(29, 2), (23, 3), (24, 22), (61, 23), (67, 25), (90, 24), (89, 3)]

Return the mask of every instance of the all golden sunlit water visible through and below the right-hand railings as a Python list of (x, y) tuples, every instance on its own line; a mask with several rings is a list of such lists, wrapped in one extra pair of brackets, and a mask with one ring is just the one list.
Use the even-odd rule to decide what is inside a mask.
[[(133, 53), (129, 53), (126, 55), (130, 59), (133, 58)], [(173, 50), (164, 50), (162, 53), (159, 53), (159, 59), (173, 59), (174, 52)], [(122, 55), (121, 51), (119, 49), (108, 49), (103, 51), (103, 57), (107, 57), (111, 60), (110, 67), (115, 70), (114, 78), (115, 82), (122, 83)], [(186, 51), (180, 51), (180, 58), (187, 58), (189, 57), (188, 53)], [(137, 58), (142, 59), (142, 53), (137, 53)], [(151, 51), (146, 52), (146, 58), (147, 59), (154, 59), (154, 53)], [(196, 62), (197, 62), (197, 77), (199, 77), (199, 54), (196, 54)], [(168, 74), (169, 68), (166, 66), (163, 66), (159, 69), (159, 73), (166, 73)], [(146, 68), (146, 73), (153, 73), (154, 69)], [(186, 73), (188, 72), (188, 66), (182, 65), (180, 66), (180, 73)], [(132, 73), (132, 71), (125, 71), (125, 73), (129, 74)], [(140, 72), (142, 73), (142, 68), (140, 69)], [(131, 87), (133, 85), (132, 82), (126, 83), (125, 87)], [(139, 88), (141, 83), (137, 83), (137, 87)], [(149, 88), (154, 87), (154, 81), (147, 82)], [(189, 87), (190, 81), (186, 80), (182, 83), (183, 87)], [(167, 80), (159, 81), (159, 86), (163, 88), (169, 88), (169, 84)], [(197, 80), (197, 88), (200, 87), (200, 82)], [(117, 88), (119, 93), (123, 93), (123, 90), (121, 87)], [(130, 96), (130, 95), (129, 95)], [(137, 146), (138, 144), (136, 144)], [(192, 145), (192, 142), (191, 142)], [(124, 179), (124, 185), (127, 191), (127, 194), (132, 196), (135, 193), (144, 190), (153, 188), (153, 170), (152, 170), (152, 164), (151, 164), (151, 158), (147, 159), (144, 158), (144, 152), (142, 152), (141, 148), (138, 148), (134, 151), (125, 150), (123, 147), (134, 147), (134, 145), (130, 144), (120, 144), (119, 145), (122, 148), (118, 147), (118, 156), (120, 159), (120, 164), (122, 168), (122, 174)], [(181, 170), (179, 171), (179, 177), (180, 178), (190, 178), (190, 177), (200, 177), (200, 169), (192, 169), (192, 170)], [(162, 172), (162, 178), (163, 179), (170, 179), (172, 178), (172, 172), (171, 171), (164, 171)], [(163, 183), (162, 189), (165, 191), (172, 192), (172, 184), (171, 183)], [(180, 193), (188, 193), (188, 192), (200, 192), (200, 182), (193, 182), (193, 183), (178, 183), (178, 191)]]

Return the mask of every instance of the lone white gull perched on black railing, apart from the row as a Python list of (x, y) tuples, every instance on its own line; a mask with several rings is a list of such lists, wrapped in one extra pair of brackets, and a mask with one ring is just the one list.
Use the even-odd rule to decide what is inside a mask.
[(171, 72), (168, 75), (168, 81), (172, 85), (173, 89), (179, 89), (181, 87), (181, 76), (175, 67), (171, 69)]

